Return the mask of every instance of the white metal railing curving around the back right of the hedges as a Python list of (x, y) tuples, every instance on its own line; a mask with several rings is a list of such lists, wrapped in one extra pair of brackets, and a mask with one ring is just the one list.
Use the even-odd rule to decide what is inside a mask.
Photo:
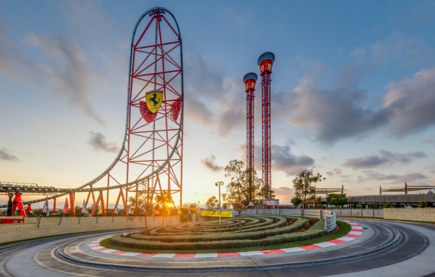
[[(249, 209), (241, 212), (242, 215), (275, 215), (275, 216), (295, 216), (301, 217), (301, 209)], [(303, 216), (324, 219), (324, 229), (331, 232), (337, 226), (336, 216), (330, 210), (305, 209)]]

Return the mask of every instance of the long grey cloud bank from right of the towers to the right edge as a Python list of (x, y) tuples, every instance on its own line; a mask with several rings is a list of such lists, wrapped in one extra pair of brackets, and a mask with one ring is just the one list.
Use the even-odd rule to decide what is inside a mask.
[(313, 78), (301, 80), (287, 97), (291, 102), (280, 98), (290, 107), (290, 125), (311, 129), (315, 140), (331, 144), (375, 130), (403, 137), (430, 128), (435, 125), (433, 87), (435, 67), (390, 83), (382, 101), (370, 102), (365, 91), (352, 88), (322, 90)]

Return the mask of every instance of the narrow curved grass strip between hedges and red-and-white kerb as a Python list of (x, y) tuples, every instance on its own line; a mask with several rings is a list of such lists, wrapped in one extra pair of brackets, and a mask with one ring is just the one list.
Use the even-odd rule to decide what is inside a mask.
[(255, 246), (255, 247), (245, 247), (245, 248), (225, 248), (225, 249), (200, 249), (200, 250), (157, 250), (157, 249), (147, 249), (146, 251), (144, 249), (137, 249), (137, 248), (129, 248), (129, 247), (121, 247), (118, 245), (111, 244), (110, 238), (107, 238), (105, 240), (102, 240), (100, 242), (100, 246), (103, 246), (105, 248), (110, 249), (116, 249), (121, 251), (127, 251), (127, 252), (136, 252), (136, 253), (225, 253), (225, 252), (246, 252), (246, 251), (260, 251), (260, 250), (273, 250), (273, 249), (281, 249), (281, 248), (290, 248), (290, 247), (298, 247), (303, 245), (310, 245), (310, 244), (316, 244), (321, 243), (329, 240), (334, 240), (337, 238), (340, 238), (347, 233), (350, 232), (350, 225), (337, 220), (337, 225), (339, 226), (339, 229), (321, 237), (317, 237), (314, 239), (304, 240), (304, 241), (297, 241), (297, 242), (291, 242), (291, 243), (285, 243), (285, 244), (276, 244), (276, 245), (269, 245), (269, 246)]

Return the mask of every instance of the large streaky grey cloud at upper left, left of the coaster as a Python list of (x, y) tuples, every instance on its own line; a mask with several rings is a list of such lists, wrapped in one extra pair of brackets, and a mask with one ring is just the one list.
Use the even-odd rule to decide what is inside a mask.
[(106, 79), (92, 68), (83, 49), (61, 34), (44, 37), (32, 33), (25, 37), (25, 42), (42, 55), (28, 56), (28, 51), (0, 30), (0, 74), (63, 97), (68, 106), (81, 109), (103, 124), (89, 100)]

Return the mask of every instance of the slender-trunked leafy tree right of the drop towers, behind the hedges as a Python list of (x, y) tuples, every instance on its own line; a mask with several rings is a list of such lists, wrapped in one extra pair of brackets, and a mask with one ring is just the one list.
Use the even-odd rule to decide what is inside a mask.
[(321, 182), (326, 178), (322, 178), (320, 173), (314, 175), (312, 168), (310, 170), (302, 170), (293, 179), (293, 190), (296, 197), (302, 200), (302, 218), (306, 204), (306, 198), (315, 191), (314, 184)]

